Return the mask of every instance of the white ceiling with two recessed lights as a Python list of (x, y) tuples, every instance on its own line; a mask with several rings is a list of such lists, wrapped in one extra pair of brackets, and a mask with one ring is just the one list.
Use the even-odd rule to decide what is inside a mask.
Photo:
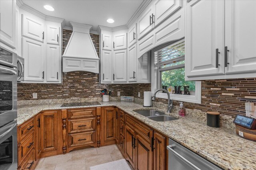
[[(96, 31), (98, 25), (117, 27), (126, 25), (143, 0), (22, 0), (24, 4), (48, 16), (92, 25)], [(54, 11), (44, 9), (50, 5)], [(106, 20), (112, 18), (114, 23)]]

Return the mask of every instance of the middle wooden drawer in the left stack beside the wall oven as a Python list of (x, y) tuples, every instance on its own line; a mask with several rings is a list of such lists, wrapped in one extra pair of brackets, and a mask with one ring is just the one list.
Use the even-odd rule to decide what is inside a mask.
[(28, 134), (28, 137), (22, 140), (18, 146), (19, 162), (22, 162), (27, 156), (28, 152), (34, 148), (34, 130)]

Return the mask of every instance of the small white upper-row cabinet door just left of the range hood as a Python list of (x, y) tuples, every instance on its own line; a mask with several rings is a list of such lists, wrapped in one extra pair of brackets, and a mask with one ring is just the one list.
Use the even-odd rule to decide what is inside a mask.
[(47, 25), (47, 43), (59, 44), (60, 42), (60, 27)]

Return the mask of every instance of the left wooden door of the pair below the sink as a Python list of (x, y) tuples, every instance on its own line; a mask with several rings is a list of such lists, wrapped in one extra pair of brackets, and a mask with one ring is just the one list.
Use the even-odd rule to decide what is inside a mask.
[(124, 136), (124, 148), (126, 159), (130, 162), (132, 167), (135, 169), (135, 149), (134, 149), (134, 138), (135, 132), (134, 130), (126, 125), (125, 126), (125, 136)]

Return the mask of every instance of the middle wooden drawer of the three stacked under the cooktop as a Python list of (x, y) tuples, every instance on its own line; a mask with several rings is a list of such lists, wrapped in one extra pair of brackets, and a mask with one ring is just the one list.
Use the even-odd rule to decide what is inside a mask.
[(95, 130), (95, 118), (68, 120), (68, 133)]

